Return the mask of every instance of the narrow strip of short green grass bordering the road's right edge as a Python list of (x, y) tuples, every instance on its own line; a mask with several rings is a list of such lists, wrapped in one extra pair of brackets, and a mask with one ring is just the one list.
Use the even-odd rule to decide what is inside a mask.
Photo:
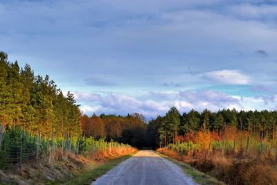
[(172, 161), (172, 163), (180, 166), (181, 169), (184, 171), (184, 173), (186, 173), (186, 175), (192, 177), (194, 182), (197, 182), (198, 184), (224, 185), (223, 182), (220, 182), (219, 180), (215, 179), (214, 177), (211, 177), (210, 175), (206, 175), (205, 173), (199, 172), (195, 168), (191, 167), (189, 164), (186, 164), (181, 161), (177, 161), (177, 160), (172, 159), (172, 158), (170, 158), (166, 155), (163, 155), (159, 152), (157, 152), (157, 154), (165, 159), (168, 159), (169, 161)]

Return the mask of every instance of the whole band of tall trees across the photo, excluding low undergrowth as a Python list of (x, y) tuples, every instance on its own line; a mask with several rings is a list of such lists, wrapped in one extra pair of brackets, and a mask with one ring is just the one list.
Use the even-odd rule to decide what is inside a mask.
[(166, 115), (157, 116), (149, 123), (138, 113), (89, 117), (81, 114), (80, 105), (70, 91), (64, 96), (49, 76), (35, 75), (28, 64), (20, 68), (17, 61), (8, 62), (8, 55), (3, 52), (0, 53), (0, 97), (0, 123), (4, 129), (21, 127), (30, 134), (40, 131), (44, 139), (49, 139), (51, 132), (57, 137), (83, 134), (139, 148), (157, 148), (200, 130), (223, 132), (226, 126), (274, 139), (277, 125), (277, 112), (267, 110), (197, 112), (192, 109), (180, 114), (172, 107)]

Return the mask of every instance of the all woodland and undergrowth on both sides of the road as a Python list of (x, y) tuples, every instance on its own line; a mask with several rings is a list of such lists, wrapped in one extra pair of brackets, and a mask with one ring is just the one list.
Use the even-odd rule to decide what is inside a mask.
[[(227, 184), (274, 184), (276, 126), (277, 112), (268, 110), (192, 109), (181, 114), (172, 107), (148, 122), (139, 113), (87, 116), (73, 93), (64, 95), (49, 76), (35, 75), (28, 64), (20, 68), (0, 52), (4, 172), (19, 167), (22, 173), (24, 165), (33, 169), (30, 164), (42, 161), (49, 171), (53, 166), (66, 168), (65, 175), (70, 168), (81, 171), (90, 160), (105, 161), (136, 148), (153, 148)], [(8, 178), (1, 171), (0, 177)]]

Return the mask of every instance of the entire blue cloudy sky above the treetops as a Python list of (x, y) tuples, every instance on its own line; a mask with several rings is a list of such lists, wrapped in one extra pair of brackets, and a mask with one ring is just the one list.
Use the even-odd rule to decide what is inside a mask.
[(0, 0), (0, 25), (84, 114), (277, 108), (276, 0)]

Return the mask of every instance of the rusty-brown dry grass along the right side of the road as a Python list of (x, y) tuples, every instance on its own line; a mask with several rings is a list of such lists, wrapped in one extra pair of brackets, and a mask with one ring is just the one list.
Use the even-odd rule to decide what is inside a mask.
[(222, 157), (180, 157), (177, 152), (166, 148), (159, 149), (163, 155), (184, 161), (197, 170), (216, 177), (226, 184), (277, 184), (277, 164), (262, 158)]

